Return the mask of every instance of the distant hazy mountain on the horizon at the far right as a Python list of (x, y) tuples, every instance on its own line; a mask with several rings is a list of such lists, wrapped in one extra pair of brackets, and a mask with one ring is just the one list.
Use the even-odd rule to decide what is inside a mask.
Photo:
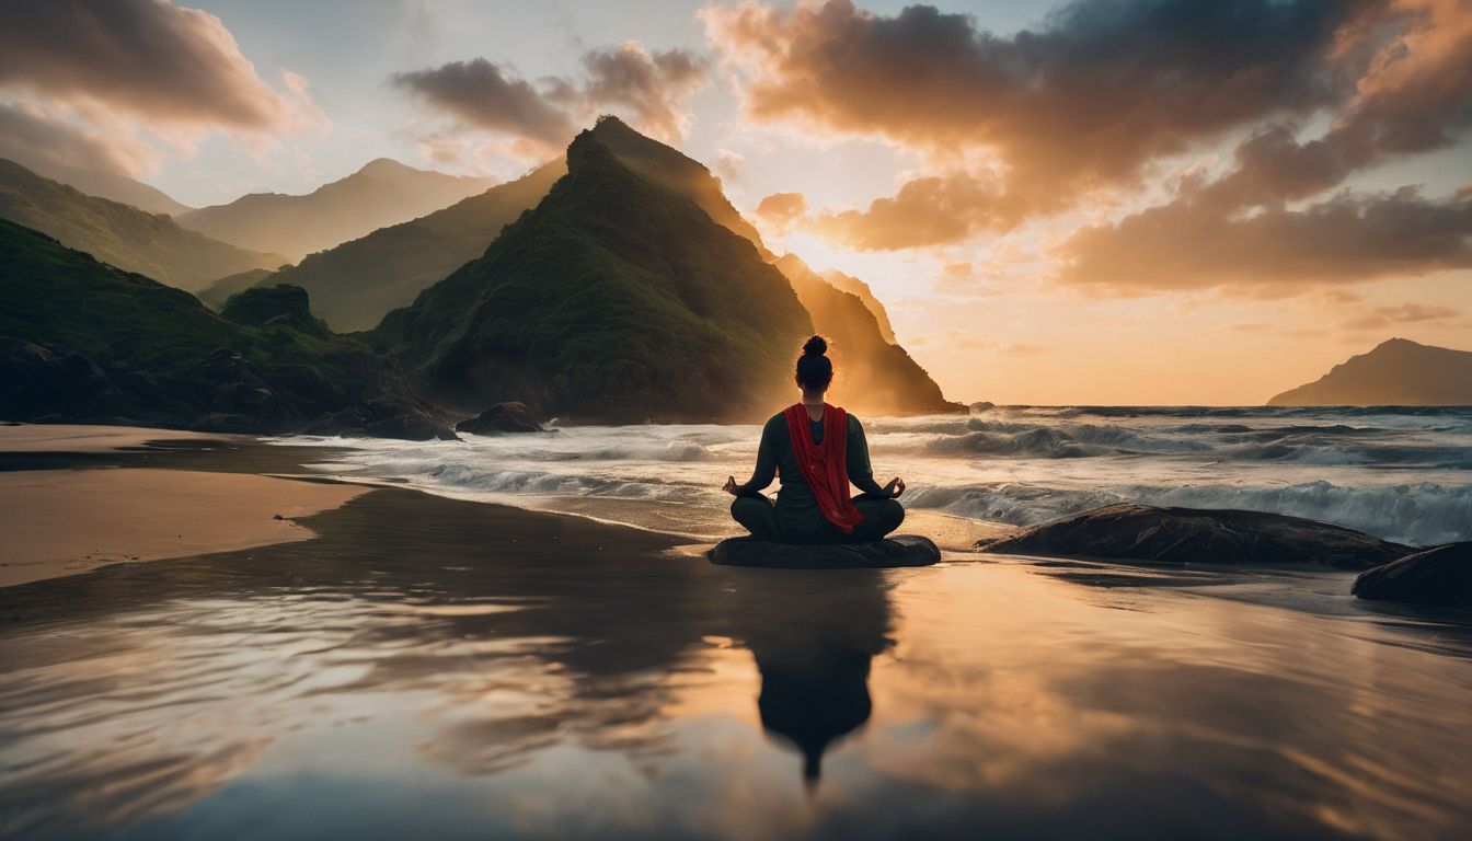
[(1390, 339), (1351, 356), (1313, 383), (1267, 401), (1270, 407), (1472, 405), (1472, 351)]

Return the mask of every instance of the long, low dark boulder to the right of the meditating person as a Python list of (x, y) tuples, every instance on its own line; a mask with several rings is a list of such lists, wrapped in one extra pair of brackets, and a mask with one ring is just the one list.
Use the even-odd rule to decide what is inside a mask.
[(1303, 564), (1367, 570), (1415, 552), (1342, 526), (1263, 511), (1107, 505), (1005, 538), (983, 552), (1167, 564)]

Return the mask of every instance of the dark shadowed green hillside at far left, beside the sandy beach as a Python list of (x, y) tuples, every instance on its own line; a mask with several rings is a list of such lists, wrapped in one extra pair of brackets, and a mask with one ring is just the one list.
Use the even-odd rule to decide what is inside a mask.
[(0, 418), (433, 437), (399, 368), (312, 318), (300, 289), (222, 315), (0, 221)]

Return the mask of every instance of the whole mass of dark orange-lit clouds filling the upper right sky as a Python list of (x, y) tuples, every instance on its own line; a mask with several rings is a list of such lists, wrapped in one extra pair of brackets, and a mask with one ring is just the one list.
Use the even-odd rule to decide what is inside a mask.
[[(1457, 205), (1322, 196), (1466, 134), (1466, 0), (1080, 0), (1008, 37), (929, 6), (885, 16), (848, 0), (793, 10), (748, 0), (701, 18), (751, 119), (874, 137), (921, 156), (920, 174), (892, 196), (810, 217), (851, 249), (936, 247), (1005, 234), (1085, 199), (1117, 202), (1157, 180), (1163, 159), (1245, 131), (1228, 171), (1186, 177), (1167, 209), (1079, 231), (1060, 277), (1139, 290), (1263, 284), (1273, 271), (1326, 281), (1460, 265), (1460, 240), (1435, 233), (1459, 224)], [(1306, 137), (1323, 115), (1328, 128)], [(1284, 208), (1314, 199), (1300, 212)], [(1341, 265), (1319, 246), (1332, 239), (1320, 230), (1329, 219), (1356, 231), (1400, 224), (1420, 239), (1367, 233), (1350, 250), (1370, 262)], [(1307, 239), (1273, 237), (1266, 228), (1276, 221)], [(1157, 242), (1151, 230), (1198, 239)], [(1222, 249), (1220, 237), (1270, 250)], [(1189, 259), (1191, 247), (1220, 265)], [(1142, 265), (1142, 253), (1191, 272)]]

